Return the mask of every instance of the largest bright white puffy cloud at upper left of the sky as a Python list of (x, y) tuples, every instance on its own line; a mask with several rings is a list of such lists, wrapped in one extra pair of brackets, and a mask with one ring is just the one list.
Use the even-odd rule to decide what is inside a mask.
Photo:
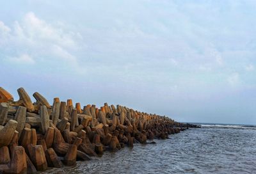
[[(65, 31), (62, 27), (39, 19), (33, 12), (13, 22), (12, 29), (0, 21), (0, 38), (4, 36), (0, 45), (4, 43), (5, 46), (0, 49), (6, 51), (7, 58), (14, 53), (14, 56), (9, 56), (12, 63), (34, 64), (42, 59), (46, 62), (61, 59), (76, 70), (79, 67), (73, 53), (81, 45), (77, 40), (82, 40), (82, 37), (78, 32)], [(12, 52), (8, 47), (12, 48)], [(36, 59), (29, 55), (35, 55)]]

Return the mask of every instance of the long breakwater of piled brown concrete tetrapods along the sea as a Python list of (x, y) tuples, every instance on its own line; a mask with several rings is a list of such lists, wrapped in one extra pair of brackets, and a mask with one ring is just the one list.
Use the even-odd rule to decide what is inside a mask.
[(13, 100), (0, 88), (0, 173), (35, 173), (73, 166), (106, 150), (116, 151), (147, 139), (166, 139), (195, 125), (107, 103), (102, 107), (61, 102), (52, 106), (40, 93), (32, 102), (24, 88)]

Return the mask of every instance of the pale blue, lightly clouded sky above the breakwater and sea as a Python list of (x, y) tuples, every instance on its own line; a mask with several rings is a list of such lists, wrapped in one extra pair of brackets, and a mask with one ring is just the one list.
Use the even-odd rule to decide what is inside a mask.
[[(256, 1), (0, 2), (0, 86), (256, 124)], [(33, 99), (35, 101), (35, 99)]]

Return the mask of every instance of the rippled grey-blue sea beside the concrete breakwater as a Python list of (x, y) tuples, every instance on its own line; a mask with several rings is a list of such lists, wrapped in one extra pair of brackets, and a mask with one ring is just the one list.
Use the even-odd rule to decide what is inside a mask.
[(255, 125), (196, 124), (201, 128), (154, 139), (156, 144), (135, 143), (43, 173), (256, 173)]

